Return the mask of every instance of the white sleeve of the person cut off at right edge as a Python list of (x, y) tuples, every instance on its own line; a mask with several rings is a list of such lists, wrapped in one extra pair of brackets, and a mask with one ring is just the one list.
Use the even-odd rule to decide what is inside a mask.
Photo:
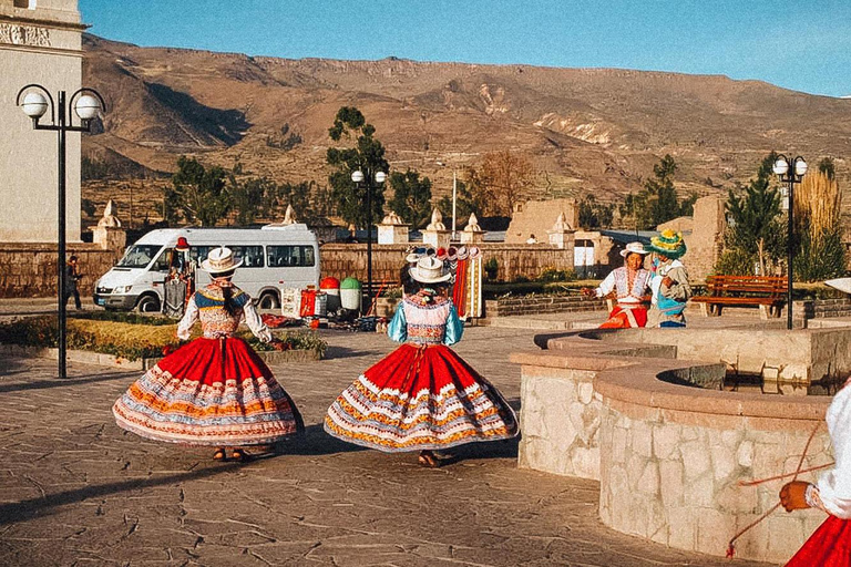
[(828, 429), (837, 464), (817, 483), (824, 511), (842, 519), (851, 518), (851, 386), (833, 396), (828, 409)]

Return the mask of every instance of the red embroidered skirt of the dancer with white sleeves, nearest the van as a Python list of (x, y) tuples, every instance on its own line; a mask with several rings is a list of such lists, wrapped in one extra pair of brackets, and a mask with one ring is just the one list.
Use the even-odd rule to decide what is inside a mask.
[(196, 339), (164, 358), (113, 405), (119, 426), (187, 445), (267, 444), (304, 430), (271, 371), (242, 339)]

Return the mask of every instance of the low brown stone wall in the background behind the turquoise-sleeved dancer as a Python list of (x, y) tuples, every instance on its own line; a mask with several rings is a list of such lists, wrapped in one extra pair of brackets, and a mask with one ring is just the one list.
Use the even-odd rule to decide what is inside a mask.
[[(373, 281), (399, 281), (409, 245), (372, 245)], [(544, 268), (573, 269), (573, 250), (548, 245), (506, 245), (484, 243), (480, 246), (483, 261), (496, 259), (496, 279), (511, 281), (520, 276), (537, 278)], [(322, 277), (342, 279), (349, 276), (367, 279), (366, 244), (326, 244), (320, 248)]]

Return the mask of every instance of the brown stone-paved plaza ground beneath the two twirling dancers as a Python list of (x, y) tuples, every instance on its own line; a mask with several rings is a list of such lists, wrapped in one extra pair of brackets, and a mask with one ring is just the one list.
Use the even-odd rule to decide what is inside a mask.
[[(458, 351), (517, 406), (507, 355), (533, 332), (472, 328)], [(273, 369), (307, 434), (247, 464), (120, 430), (110, 408), (135, 373), (71, 364), (60, 382), (54, 361), (0, 360), (0, 565), (758, 565), (605, 528), (596, 483), (519, 470), (516, 441), (426, 470), (331, 439), (328, 404), (392, 344), (326, 336), (327, 360)]]

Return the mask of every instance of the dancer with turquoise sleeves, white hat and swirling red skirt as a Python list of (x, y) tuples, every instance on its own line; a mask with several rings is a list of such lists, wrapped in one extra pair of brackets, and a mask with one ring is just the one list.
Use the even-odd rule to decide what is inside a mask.
[(513, 437), (517, 419), (500, 392), (447, 347), (461, 339), (463, 324), (452, 301), (437, 291), (450, 277), (443, 262), (427, 256), (410, 274), (421, 289), (404, 298), (388, 328), (403, 344), (337, 398), (325, 431), (379, 451), (420, 451), (420, 464), (433, 467), (433, 450)]

